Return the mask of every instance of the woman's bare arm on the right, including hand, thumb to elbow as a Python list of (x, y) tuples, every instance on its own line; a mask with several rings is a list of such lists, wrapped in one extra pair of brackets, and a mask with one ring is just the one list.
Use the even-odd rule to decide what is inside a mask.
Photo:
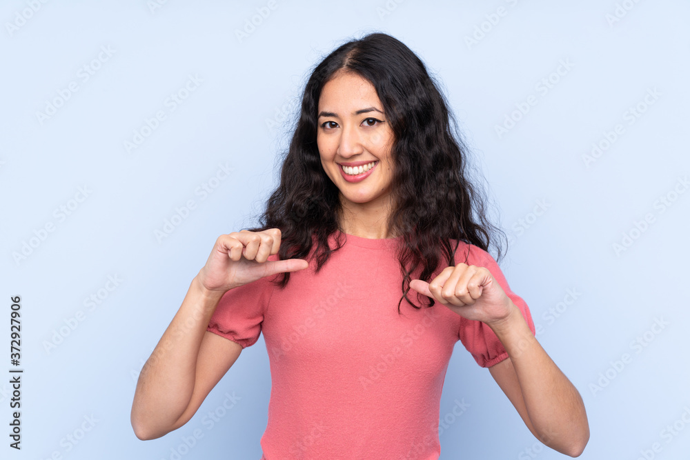
[(582, 453), (589, 441), (589, 423), (580, 394), (544, 352), (520, 309), (487, 268), (458, 263), (442, 270), (431, 283), (415, 279), (410, 287), (465, 319), (489, 326), (509, 354), (509, 359), (490, 368), (491, 374), (527, 428), (558, 452), (572, 457)]

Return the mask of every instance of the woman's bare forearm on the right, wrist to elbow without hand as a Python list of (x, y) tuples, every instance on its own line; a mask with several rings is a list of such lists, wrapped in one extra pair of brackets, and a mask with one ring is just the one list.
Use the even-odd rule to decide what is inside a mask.
[(509, 317), (491, 329), (509, 354), (489, 368), (491, 376), (537, 439), (578, 457), (589, 441), (589, 423), (578, 390), (546, 354), (515, 305)]

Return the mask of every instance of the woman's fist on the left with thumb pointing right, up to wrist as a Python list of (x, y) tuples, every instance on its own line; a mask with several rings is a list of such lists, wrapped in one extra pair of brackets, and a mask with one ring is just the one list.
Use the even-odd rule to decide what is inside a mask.
[(304, 259), (267, 261), (269, 255), (278, 253), (279, 247), (278, 228), (223, 234), (216, 240), (197, 279), (206, 290), (224, 293), (263, 277), (304, 270), (309, 266)]

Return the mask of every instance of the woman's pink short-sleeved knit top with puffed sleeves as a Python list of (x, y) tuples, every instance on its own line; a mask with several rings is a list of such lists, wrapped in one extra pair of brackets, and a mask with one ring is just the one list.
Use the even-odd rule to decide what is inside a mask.
[[(455, 343), (483, 367), (508, 354), (488, 326), (440, 303), (417, 310), (403, 301), (399, 315), (402, 239), (346, 237), (318, 274), (310, 260), (284, 290), (264, 278), (226, 292), (208, 330), (243, 348), (264, 332), (272, 383), (264, 460), (436, 460)], [(489, 253), (461, 242), (456, 263), (468, 250), (467, 263), (491, 271), (534, 333), (526, 303)]]

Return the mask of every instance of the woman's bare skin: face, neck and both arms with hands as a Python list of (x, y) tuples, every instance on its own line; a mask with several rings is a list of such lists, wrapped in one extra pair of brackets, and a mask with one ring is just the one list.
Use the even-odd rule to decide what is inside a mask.
[[(364, 238), (395, 237), (386, 230), (393, 132), (375, 88), (355, 74), (336, 74), (322, 90), (319, 114), (323, 128), (317, 131), (317, 143), (324, 171), (340, 191), (342, 229)], [(337, 163), (359, 160), (378, 161), (377, 167), (364, 181), (345, 181)], [(268, 261), (280, 242), (277, 228), (218, 237), (139, 374), (131, 412), (139, 439), (159, 438), (184, 426), (242, 352), (239, 344), (206, 330), (223, 294), (262, 277), (308, 267), (304, 259)], [(580, 394), (489, 270), (460, 264), (445, 268), (431, 283), (417, 279), (410, 286), (462, 317), (489, 325), (509, 354), (489, 371), (529, 430), (564, 454), (576, 457), (584, 450), (589, 425)]]

